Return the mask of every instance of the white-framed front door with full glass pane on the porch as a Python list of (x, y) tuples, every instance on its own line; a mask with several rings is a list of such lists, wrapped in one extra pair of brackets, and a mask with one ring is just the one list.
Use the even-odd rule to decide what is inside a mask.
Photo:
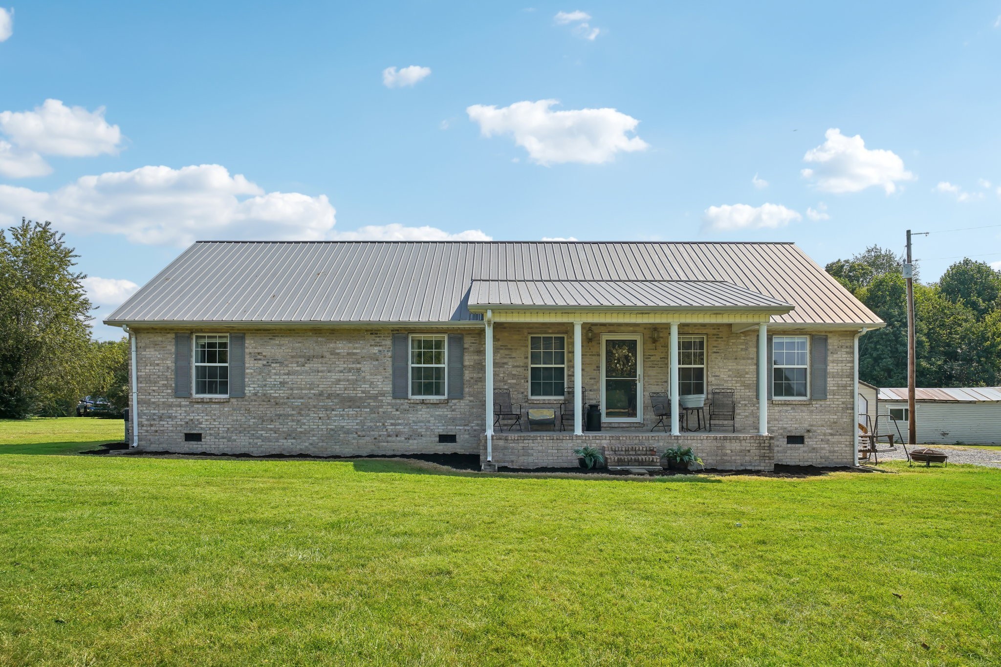
[(602, 336), (602, 418), (643, 421), (643, 336)]

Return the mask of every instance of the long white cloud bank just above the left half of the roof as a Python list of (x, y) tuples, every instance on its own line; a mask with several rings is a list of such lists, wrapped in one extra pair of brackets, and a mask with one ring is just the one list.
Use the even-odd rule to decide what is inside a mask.
[(335, 213), (325, 195), (265, 192), (217, 164), (83, 176), (53, 192), (0, 185), (0, 223), (25, 216), (51, 220), (61, 231), (119, 234), (133, 243), (489, 239), (479, 230), (451, 234), (399, 224), (341, 232), (334, 230)]

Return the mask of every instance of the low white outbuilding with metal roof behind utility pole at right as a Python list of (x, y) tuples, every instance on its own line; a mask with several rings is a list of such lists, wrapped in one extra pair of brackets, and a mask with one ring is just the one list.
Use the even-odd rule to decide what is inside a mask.
[[(907, 388), (880, 389), (879, 432), (907, 437)], [(1001, 387), (917, 389), (919, 444), (1001, 444)], [(894, 423), (896, 422), (896, 423)]]

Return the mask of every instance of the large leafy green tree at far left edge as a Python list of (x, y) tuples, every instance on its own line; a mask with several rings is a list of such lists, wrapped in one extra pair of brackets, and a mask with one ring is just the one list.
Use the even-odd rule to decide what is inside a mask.
[(0, 230), (0, 417), (52, 414), (88, 382), (90, 302), (50, 223)]

